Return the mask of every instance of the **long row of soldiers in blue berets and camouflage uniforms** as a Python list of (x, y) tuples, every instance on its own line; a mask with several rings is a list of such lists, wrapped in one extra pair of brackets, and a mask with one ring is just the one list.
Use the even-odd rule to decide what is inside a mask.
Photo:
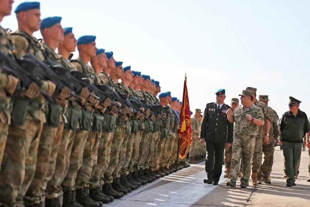
[[(0, 0), (0, 21), (11, 14), (12, 3)], [(2, 70), (0, 205), (42, 206), (45, 198), (45, 206), (57, 207), (63, 193), (62, 206), (98, 207), (189, 166), (185, 160), (175, 163), (180, 102), (170, 92), (157, 99), (158, 81), (123, 68), (113, 52), (96, 47), (95, 36), (77, 40), (71, 27), (62, 28), (61, 17), (41, 21), (39, 2), (23, 2), (15, 14), (18, 30), (0, 27), (1, 51), (12, 59), (30, 53), (166, 113), (145, 108), (134, 113), (108, 97), (99, 100), (87, 87), (72, 96), (70, 88), (49, 79), (15, 92), (19, 79)], [(42, 41), (33, 37), (38, 30)], [(71, 60), (76, 47), (78, 58)]]

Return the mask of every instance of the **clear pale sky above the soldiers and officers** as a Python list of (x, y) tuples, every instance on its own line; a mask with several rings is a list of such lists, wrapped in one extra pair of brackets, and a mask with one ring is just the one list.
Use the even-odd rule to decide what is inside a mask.
[[(123, 66), (150, 75), (180, 100), (187, 71), (192, 111), (214, 102), (219, 88), (230, 104), (250, 86), (269, 95), (279, 116), (288, 110), (289, 96), (310, 115), (310, 1), (40, 2), (42, 18), (62, 16), (62, 26), (73, 27), (76, 37), (96, 35), (98, 48), (113, 51)], [(13, 11), (2, 27), (17, 29)]]

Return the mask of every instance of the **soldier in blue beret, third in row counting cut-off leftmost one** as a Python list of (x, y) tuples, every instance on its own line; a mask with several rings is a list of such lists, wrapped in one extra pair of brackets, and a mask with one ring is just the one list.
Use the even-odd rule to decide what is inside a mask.
[[(61, 57), (55, 53), (55, 49), (64, 40), (64, 29), (60, 25), (61, 17), (47, 17), (41, 21), (40, 30), (43, 36), (42, 47), (45, 56), (61, 65)], [(51, 48), (49, 45), (52, 45)], [(67, 122), (65, 117), (68, 101), (65, 100), (70, 95), (68, 87), (61, 89), (61, 96), (56, 97), (56, 101), (48, 101), (46, 105), (45, 117), (47, 122), (43, 125), (42, 135), (38, 146), (38, 156), (36, 172), (34, 178), (25, 194), (24, 204), (30, 206), (42, 202), (44, 195), (44, 180), (49, 180), (55, 169), (56, 157), (60, 145), (60, 140)], [(48, 176), (46, 176), (48, 173)], [(48, 177), (48, 178), (47, 178)], [(46, 206), (60, 205), (59, 200), (47, 200)]]

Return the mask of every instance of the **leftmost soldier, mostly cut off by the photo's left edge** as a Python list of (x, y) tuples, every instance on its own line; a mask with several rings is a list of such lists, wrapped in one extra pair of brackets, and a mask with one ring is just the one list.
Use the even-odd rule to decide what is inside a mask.
[[(4, 16), (11, 14), (11, 5), (13, 1), (1, 1), (0, 10), (0, 22)], [(10, 39), (10, 35), (7, 30), (0, 26), (0, 49), (2, 52), (14, 58), (14, 45)], [(0, 165), (3, 159), (4, 147), (7, 142), (7, 134), (9, 129), (9, 124), (11, 123), (11, 115), (9, 112), (10, 97), (7, 96), (6, 92), (10, 95), (13, 94), (18, 83), (18, 79), (12, 75), (7, 75), (1, 71), (0, 79)], [(1, 168), (0, 168), (1, 169)]]

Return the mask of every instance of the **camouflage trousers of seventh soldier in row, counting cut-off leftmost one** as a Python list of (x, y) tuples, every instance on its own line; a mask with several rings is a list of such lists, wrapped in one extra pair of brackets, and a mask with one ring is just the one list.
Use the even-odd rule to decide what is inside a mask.
[(94, 175), (90, 179), (89, 188), (94, 189), (104, 184), (103, 174), (110, 163), (111, 146), (114, 132), (103, 131), (98, 147), (98, 160)]

